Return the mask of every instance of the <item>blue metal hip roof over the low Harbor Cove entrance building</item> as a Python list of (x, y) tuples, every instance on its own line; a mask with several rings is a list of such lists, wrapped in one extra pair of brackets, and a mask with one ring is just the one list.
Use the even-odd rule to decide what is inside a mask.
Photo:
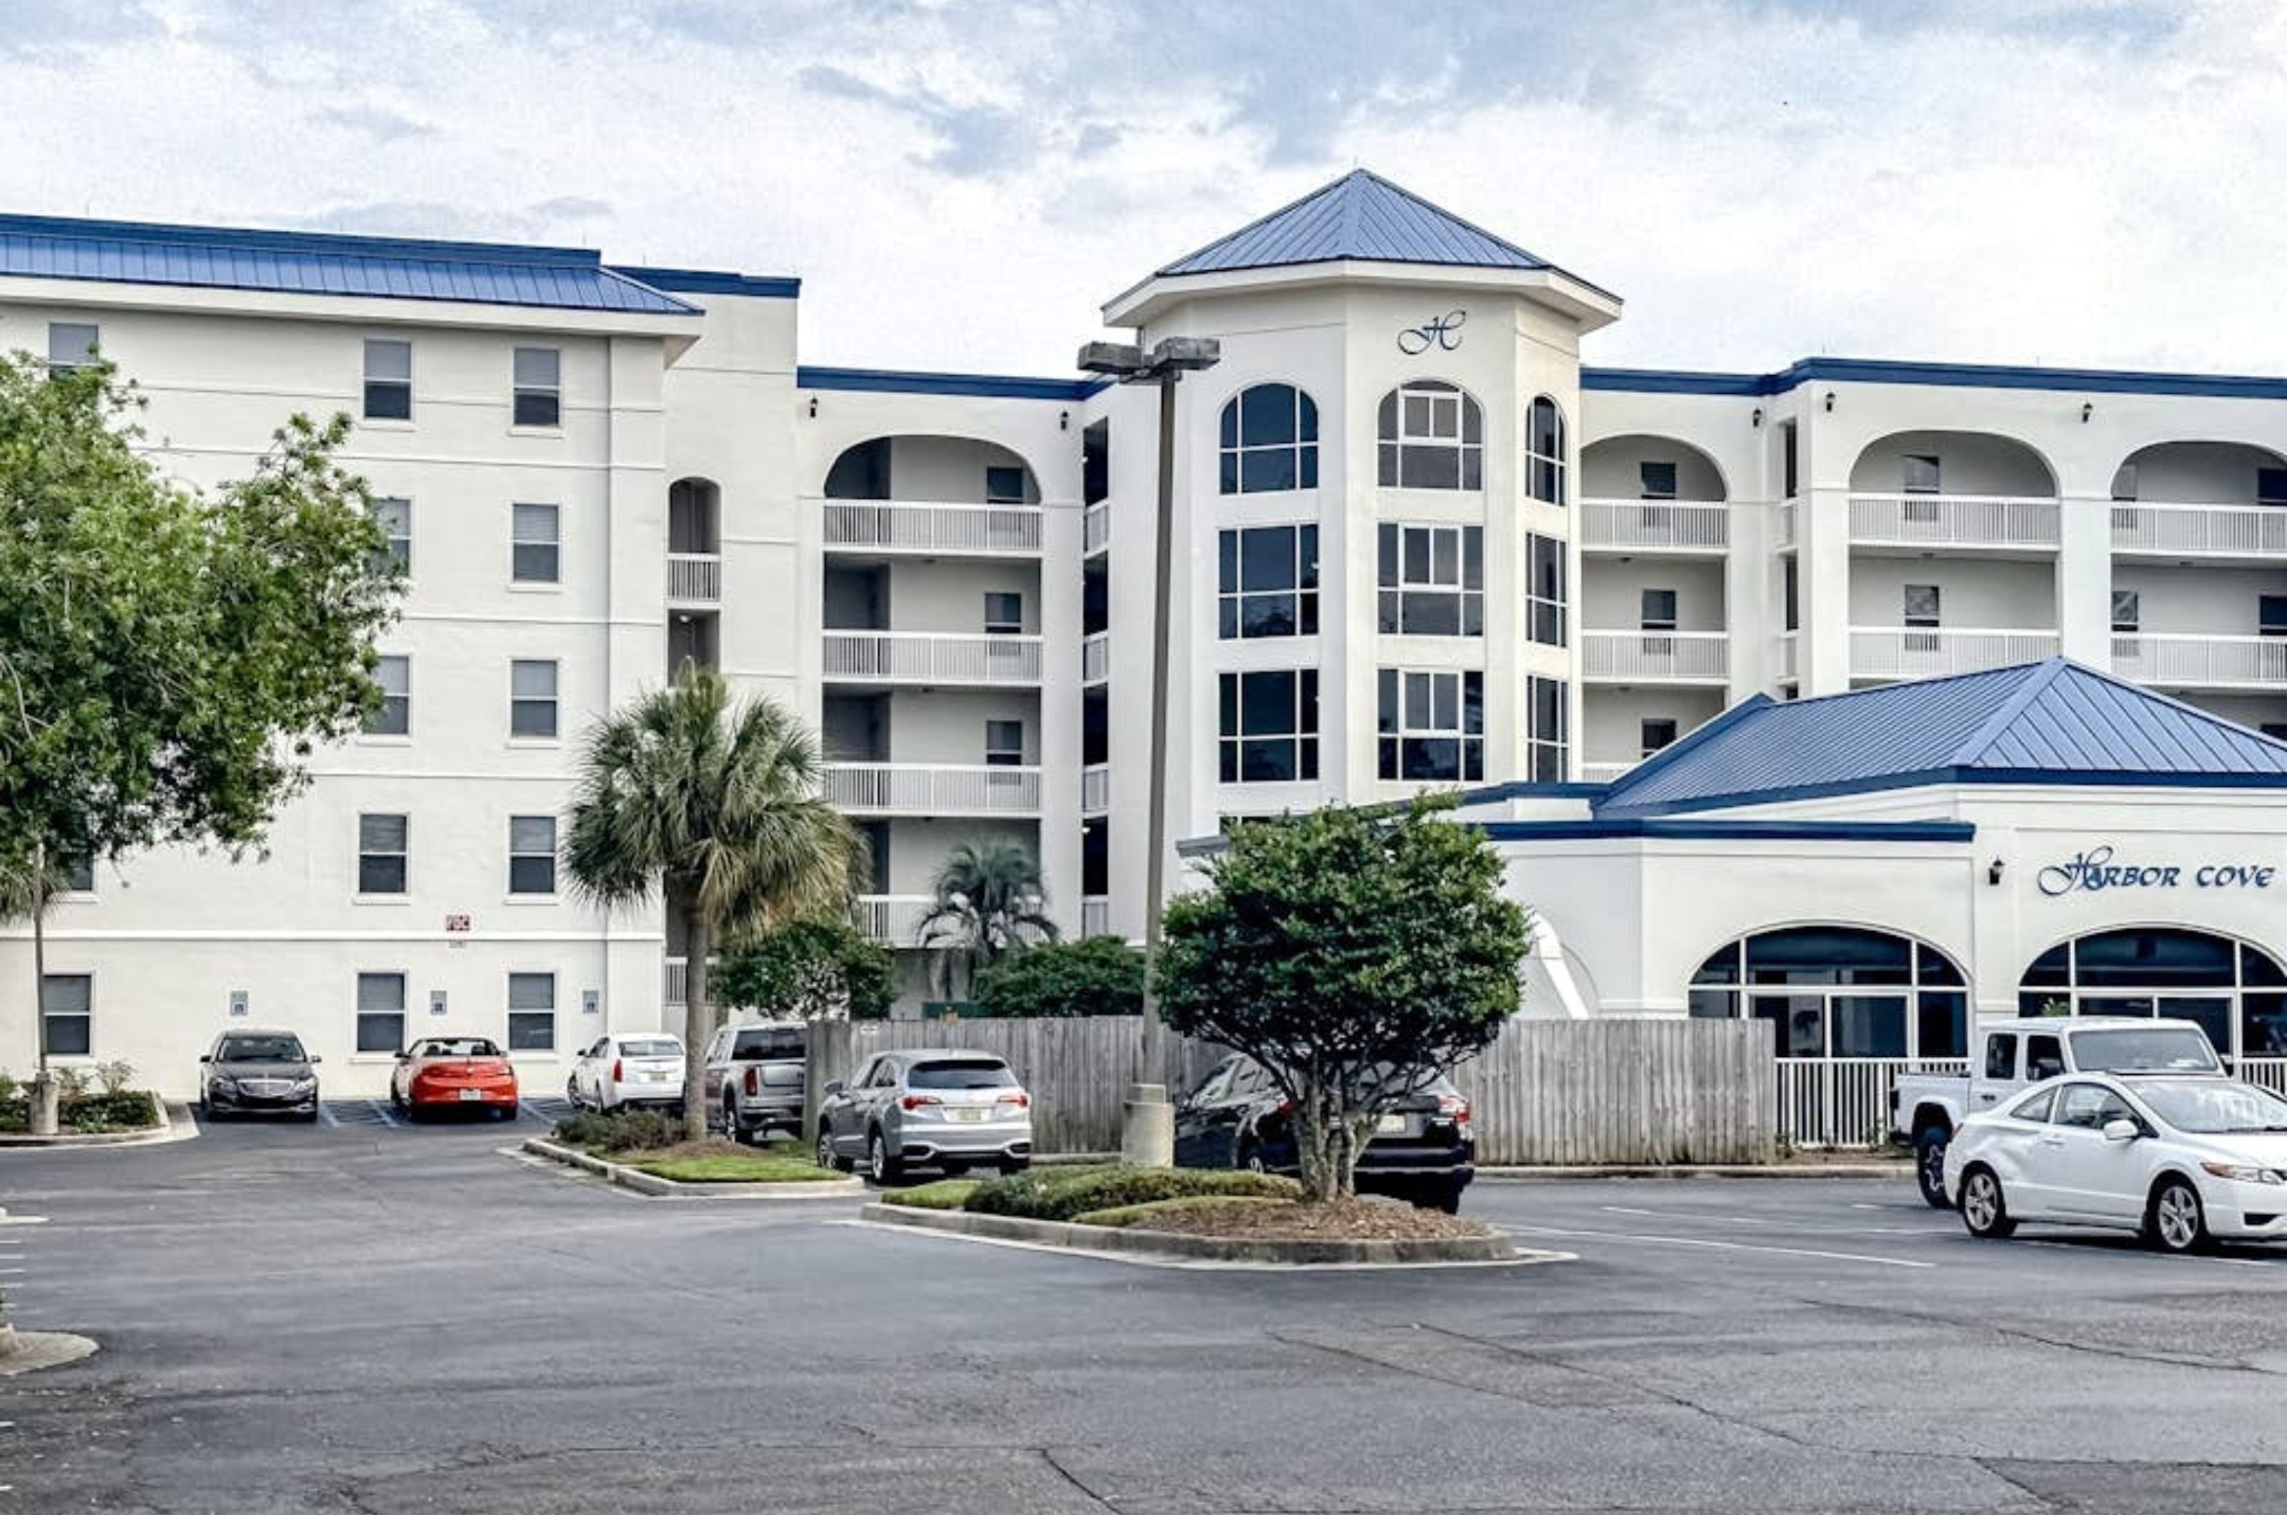
[(1816, 700), (1756, 696), (1631, 769), (1599, 817), (1933, 783), (2287, 790), (2287, 744), (2063, 657)]

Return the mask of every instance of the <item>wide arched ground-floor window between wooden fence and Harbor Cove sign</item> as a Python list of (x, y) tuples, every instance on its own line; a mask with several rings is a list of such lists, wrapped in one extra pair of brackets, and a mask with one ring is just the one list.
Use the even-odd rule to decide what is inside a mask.
[(1786, 927), (1692, 975), (1695, 1018), (1768, 1021), (1779, 1057), (1965, 1057), (1969, 982), (1939, 952), (1864, 927)]

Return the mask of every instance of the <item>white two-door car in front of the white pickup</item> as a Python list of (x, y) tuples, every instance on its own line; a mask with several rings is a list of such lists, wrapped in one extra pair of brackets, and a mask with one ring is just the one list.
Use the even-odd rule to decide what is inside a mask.
[(2237, 1078), (2067, 1073), (1946, 1147), (1971, 1236), (2019, 1222), (2141, 1231), (2164, 1252), (2287, 1236), (2287, 1098)]

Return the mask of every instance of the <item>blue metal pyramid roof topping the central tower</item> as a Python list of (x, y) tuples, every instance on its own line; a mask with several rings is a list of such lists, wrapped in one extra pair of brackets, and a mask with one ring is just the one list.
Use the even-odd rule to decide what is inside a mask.
[(1160, 275), (1210, 275), (1336, 259), (1564, 272), (1516, 243), (1473, 227), (1420, 195), (1400, 190), (1379, 174), (1352, 169), (1292, 206), (1272, 211), (1262, 220), (1176, 259)]

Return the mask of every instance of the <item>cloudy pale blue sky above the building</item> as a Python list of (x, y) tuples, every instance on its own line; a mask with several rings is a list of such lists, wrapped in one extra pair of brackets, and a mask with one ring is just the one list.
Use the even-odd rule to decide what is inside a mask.
[(0, 208), (794, 272), (807, 362), (1061, 373), (1365, 165), (1601, 364), (2287, 373), (2278, 0), (0, 0)]

